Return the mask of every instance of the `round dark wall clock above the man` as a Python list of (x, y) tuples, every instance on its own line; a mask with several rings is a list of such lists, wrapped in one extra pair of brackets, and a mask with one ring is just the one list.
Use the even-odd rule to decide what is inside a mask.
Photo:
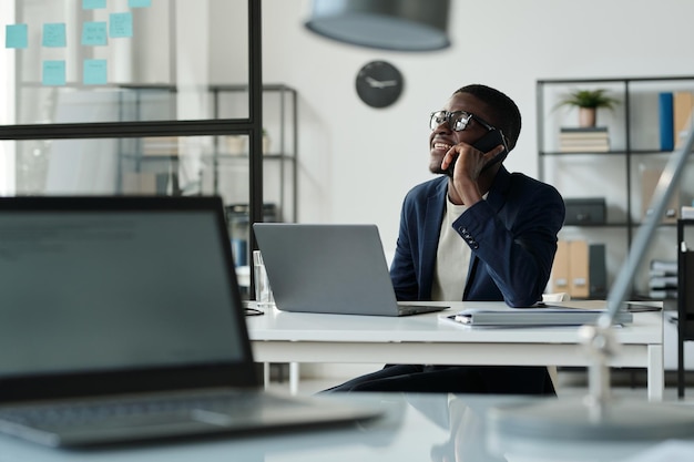
[(357, 94), (371, 107), (386, 107), (402, 93), (402, 74), (386, 61), (366, 63), (357, 74)]

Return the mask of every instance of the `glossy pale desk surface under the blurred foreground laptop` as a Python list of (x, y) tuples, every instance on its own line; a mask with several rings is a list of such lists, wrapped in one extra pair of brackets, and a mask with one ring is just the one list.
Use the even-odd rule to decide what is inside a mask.
[[(659, 442), (499, 442), (487, 428), (492, 405), (527, 400), (518, 397), (439, 394), (350, 394), (386, 409), (368, 425), (297, 431), (207, 441), (177, 441), (141, 446), (53, 450), (0, 437), (1, 461), (31, 462), (388, 462), (388, 461), (622, 461)], [(692, 460), (694, 444), (688, 443)], [(499, 455), (503, 454), (503, 456)], [(671, 459), (673, 460), (673, 459)]]

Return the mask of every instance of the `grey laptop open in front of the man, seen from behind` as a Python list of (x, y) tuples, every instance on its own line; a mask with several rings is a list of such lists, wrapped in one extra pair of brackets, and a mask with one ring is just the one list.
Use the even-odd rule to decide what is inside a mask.
[(277, 309), (408, 316), (447, 306), (398, 302), (376, 225), (256, 223)]

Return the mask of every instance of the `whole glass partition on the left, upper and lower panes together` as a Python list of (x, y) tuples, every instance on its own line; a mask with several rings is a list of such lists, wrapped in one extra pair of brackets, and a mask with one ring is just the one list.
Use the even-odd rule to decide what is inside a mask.
[(0, 14), (0, 195), (220, 195), (252, 288), (249, 224), (296, 215), (284, 86), (276, 151), (262, 148), (261, 0), (16, 0)]

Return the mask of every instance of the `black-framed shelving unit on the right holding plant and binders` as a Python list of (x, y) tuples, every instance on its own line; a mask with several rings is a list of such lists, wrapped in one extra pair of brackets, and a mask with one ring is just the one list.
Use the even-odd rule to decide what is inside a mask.
[[(606, 89), (620, 101), (614, 111), (598, 112), (596, 125), (609, 130), (606, 152), (560, 151), (560, 129), (578, 126), (578, 114), (557, 105), (578, 89)], [(643, 193), (642, 173), (662, 170), (672, 153), (660, 147), (659, 94), (685, 90), (694, 92), (694, 75), (537, 82), (539, 178), (554, 185), (564, 198), (604, 197), (606, 203), (604, 224), (565, 225), (560, 239), (604, 243), (608, 287), (613, 284), (642, 220), (642, 211), (650, 203)], [(691, 173), (685, 173), (680, 184), (682, 204), (690, 204), (694, 197), (690, 186), (694, 183), (687, 175), (691, 178)], [(659, 227), (646, 260), (676, 259), (674, 230), (674, 220)], [(634, 298), (647, 298), (647, 274), (644, 265), (634, 281)]]

